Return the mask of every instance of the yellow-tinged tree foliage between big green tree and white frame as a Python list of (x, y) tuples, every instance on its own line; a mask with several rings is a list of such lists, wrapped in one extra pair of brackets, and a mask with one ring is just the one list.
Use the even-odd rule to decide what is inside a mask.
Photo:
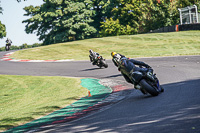
[(116, 0), (114, 4), (112, 16), (102, 22), (101, 36), (143, 33), (178, 24), (178, 8), (193, 4), (199, 6), (196, 0)]

